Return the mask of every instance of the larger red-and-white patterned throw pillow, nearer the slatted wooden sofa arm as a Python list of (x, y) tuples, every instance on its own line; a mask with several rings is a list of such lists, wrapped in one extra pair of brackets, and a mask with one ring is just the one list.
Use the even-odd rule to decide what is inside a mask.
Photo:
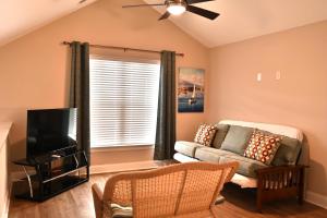
[(244, 157), (270, 165), (280, 146), (280, 141), (279, 135), (265, 134), (256, 130), (252, 133)]

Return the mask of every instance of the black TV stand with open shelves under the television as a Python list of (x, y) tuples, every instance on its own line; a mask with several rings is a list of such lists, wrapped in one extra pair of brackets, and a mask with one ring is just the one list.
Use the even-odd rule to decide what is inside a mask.
[[(75, 147), (51, 154), (13, 161), (22, 166), (26, 178), (14, 184), (19, 198), (43, 202), (89, 179), (89, 167), (84, 150)], [(27, 171), (32, 167), (35, 173)]]

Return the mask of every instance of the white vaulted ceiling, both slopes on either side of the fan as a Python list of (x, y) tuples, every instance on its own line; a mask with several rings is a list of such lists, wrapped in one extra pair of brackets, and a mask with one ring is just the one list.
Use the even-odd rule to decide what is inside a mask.
[[(82, 4), (78, 4), (78, 1), (0, 0), (0, 46), (96, 0), (87, 0)], [(144, 1), (157, 3), (164, 0)], [(170, 21), (207, 47), (327, 20), (327, 0), (216, 0), (196, 5), (221, 15), (215, 21), (209, 21), (184, 13), (171, 16)], [(160, 13), (165, 10), (165, 8), (155, 9)], [(138, 9), (124, 10), (131, 10), (131, 13), (141, 12)]]

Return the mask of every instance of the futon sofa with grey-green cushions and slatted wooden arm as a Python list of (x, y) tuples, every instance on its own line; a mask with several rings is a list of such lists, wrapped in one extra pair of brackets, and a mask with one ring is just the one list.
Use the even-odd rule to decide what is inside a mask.
[[(238, 161), (240, 167), (231, 182), (241, 187), (257, 189), (257, 209), (264, 202), (296, 196), (303, 201), (304, 166), (298, 165), (303, 134), (286, 125), (223, 120), (215, 124), (217, 132), (210, 146), (194, 142), (175, 142), (173, 158), (180, 162), (208, 161), (225, 164)], [(280, 146), (270, 165), (244, 157), (254, 131), (279, 135)]]

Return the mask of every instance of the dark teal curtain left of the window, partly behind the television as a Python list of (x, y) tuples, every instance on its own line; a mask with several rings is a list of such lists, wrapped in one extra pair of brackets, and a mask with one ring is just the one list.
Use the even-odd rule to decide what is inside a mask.
[(77, 108), (77, 147), (84, 149), (89, 159), (89, 45), (71, 44), (70, 107)]

